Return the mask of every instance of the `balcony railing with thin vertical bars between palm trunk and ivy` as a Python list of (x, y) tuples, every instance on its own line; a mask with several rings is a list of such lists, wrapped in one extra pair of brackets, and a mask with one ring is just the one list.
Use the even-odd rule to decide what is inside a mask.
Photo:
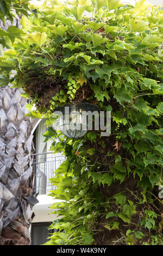
[(39, 194), (48, 194), (49, 191), (55, 190), (55, 186), (49, 181), (53, 178), (54, 171), (65, 161), (65, 156), (60, 153), (33, 154), (33, 171), (35, 174), (34, 192)]

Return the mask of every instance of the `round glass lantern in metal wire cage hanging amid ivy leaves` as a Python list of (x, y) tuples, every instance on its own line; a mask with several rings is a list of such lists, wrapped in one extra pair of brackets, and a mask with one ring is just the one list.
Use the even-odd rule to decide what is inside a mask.
[(87, 111), (99, 111), (99, 107), (90, 103), (65, 105), (57, 109), (59, 114), (59, 130), (68, 138), (79, 138), (85, 135), (88, 129)]

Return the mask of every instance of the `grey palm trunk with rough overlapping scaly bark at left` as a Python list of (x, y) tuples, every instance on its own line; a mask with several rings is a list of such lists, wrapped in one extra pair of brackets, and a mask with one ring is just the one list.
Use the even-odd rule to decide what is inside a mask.
[(0, 88), (0, 245), (30, 245), (32, 124), (21, 89)]

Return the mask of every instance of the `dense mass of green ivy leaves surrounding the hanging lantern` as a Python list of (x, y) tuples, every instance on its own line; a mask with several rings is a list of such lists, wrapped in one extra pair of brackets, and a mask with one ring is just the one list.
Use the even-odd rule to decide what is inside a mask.
[[(144, 0), (51, 0), (21, 19), (0, 57), (1, 85), (24, 89), (30, 117), (49, 117), (45, 140), (66, 160), (51, 179), (58, 232), (46, 245), (163, 245), (163, 9)], [(5, 36), (5, 35), (4, 35)], [(111, 135), (52, 129), (52, 113), (82, 101), (111, 111)]]

